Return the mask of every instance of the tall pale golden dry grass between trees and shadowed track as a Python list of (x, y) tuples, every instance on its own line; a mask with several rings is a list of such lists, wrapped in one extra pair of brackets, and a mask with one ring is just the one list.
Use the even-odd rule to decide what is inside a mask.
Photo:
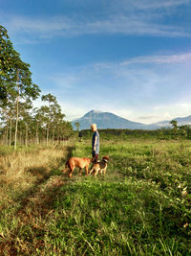
[(52, 147), (0, 155), (0, 209), (48, 178), (67, 154), (67, 147)]

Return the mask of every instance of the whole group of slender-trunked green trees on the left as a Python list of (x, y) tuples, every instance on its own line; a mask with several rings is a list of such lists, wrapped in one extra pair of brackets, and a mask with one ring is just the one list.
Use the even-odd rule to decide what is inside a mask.
[(42, 95), (44, 105), (32, 106), (40, 97), (40, 88), (32, 82), (30, 64), (25, 63), (11, 43), (8, 31), (0, 25), (0, 141), (3, 145), (28, 146), (46, 141), (65, 140), (73, 132), (64, 121), (56, 98)]

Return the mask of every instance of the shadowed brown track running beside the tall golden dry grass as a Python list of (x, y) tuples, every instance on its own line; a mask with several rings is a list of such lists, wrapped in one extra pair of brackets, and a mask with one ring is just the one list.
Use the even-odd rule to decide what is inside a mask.
[[(71, 151), (63, 157), (65, 160)], [(15, 220), (16, 224), (13, 228), (10, 227), (6, 235), (5, 232), (0, 232), (0, 255), (32, 255), (37, 248), (44, 245), (47, 223), (53, 213), (54, 202), (61, 196), (61, 187), (68, 180), (68, 177), (59, 171), (64, 165), (63, 161), (60, 161), (59, 165), (57, 170), (51, 171), (49, 175), (33, 184), (28, 191), (23, 192), (23, 198), (15, 199), (15, 211), (13, 209), (12, 216), (5, 216), (5, 220)]]

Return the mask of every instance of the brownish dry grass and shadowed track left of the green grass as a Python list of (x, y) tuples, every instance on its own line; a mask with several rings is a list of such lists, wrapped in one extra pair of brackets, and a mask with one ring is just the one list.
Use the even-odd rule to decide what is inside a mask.
[(0, 255), (29, 255), (44, 244), (70, 151), (60, 146), (0, 156)]

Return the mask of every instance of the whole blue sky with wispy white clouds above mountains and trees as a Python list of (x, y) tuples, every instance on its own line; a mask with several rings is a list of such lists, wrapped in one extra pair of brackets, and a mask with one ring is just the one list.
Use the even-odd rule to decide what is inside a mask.
[(191, 115), (190, 10), (191, 0), (0, 0), (0, 24), (66, 120), (96, 109), (152, 124)]

